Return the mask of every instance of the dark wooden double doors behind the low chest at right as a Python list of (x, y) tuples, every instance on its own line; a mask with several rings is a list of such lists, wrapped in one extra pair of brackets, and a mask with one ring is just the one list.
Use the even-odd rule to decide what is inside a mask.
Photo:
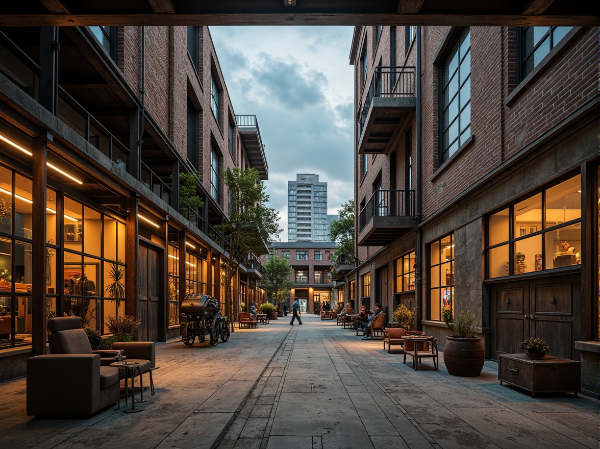
[(577, 275), (563, 275), (491, 286), (490, 357), (523, 352), (520, 343), (537, 337), (550, 345), (550, 355), (572, 359), (580, 283)]

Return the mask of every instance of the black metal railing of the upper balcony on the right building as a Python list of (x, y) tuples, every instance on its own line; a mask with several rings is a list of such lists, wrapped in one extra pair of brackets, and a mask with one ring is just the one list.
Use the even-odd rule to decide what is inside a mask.
[(415, 96), (415, 67), (376, 67), (362, 106), (359, 135), (365, 127), (375, 97), (399, 98)]

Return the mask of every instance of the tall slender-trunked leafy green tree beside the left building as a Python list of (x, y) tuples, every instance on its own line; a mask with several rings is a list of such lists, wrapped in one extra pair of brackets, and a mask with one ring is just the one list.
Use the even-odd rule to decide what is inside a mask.
[(239, 265), (249, 254), (265, 253), (269, 235), (278, 235), (282, 230), (278, 225), (279, 212), (265, 206), (269, 196), (258, 170), (227, 169), (223, 172), (223, 184), (229, 190), (229, 220), (217, 224), (214, 230), (223, 237), (223, 249), (228, 255), (222, 266), (225, 307), (233, 331), (233, 279), (238, 275)]

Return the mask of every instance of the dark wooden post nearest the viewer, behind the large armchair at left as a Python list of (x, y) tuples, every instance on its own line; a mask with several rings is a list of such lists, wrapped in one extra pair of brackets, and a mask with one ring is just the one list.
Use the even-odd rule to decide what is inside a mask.
[(35, 137), (32, 157), (32, 245), (34, 257), (31, 271), (32, 321), (31, 346), (33, 355), (46, 354), (46, 139)]

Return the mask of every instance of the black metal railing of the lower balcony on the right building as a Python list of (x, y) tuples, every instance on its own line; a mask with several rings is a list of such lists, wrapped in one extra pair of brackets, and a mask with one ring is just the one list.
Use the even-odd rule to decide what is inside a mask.
[(359, 232), (373, 217), (413, 217), (414, 215), (414, 190), (376, 190), (359, 215)]

